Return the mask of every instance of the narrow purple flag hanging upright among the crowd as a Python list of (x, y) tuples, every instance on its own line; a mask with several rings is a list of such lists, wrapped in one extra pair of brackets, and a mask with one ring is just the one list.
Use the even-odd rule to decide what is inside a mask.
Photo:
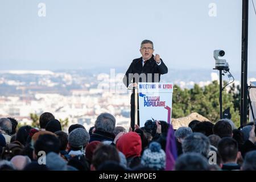
[(166, 171), (172, 171), (177, 159), (176, 139), (174, 137), (174, 129), (170, 125), (166, 142)]

